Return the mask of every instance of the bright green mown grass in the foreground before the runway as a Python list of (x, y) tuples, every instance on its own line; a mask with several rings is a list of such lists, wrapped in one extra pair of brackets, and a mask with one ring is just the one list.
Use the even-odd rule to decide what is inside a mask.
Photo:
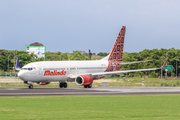
[(0, 97), (1, 120), (177, 120), (180, 95)]

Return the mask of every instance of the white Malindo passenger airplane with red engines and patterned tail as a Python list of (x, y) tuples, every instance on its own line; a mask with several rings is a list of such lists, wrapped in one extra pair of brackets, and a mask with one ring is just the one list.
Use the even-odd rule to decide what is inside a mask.
[(47, 85), (50, 82), (59, 82), (60, 88), (67, 88), (67, 82), (75, 82), (84, 88), (91, 88), (94, 80), (110, 77), (113, 74), (158, 70), (165, 67), (169, 57), (161, 68), (119, 71), (123, 65), (154, 61), (122, 62), (125, 31), (126, 26), (122, 26), (110, 54), (101, 60), (40, 61), (29, 63), (20, 69), (18, 57), (16, 63), (18, 76), (24, 83), (29, 84), (29, 89), (33, 89), (33, 83)]

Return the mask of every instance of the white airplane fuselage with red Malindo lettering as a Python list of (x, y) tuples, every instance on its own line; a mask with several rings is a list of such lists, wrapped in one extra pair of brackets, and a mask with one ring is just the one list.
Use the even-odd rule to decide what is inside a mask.
[(104, 72), (107, 67), (107, 60), (42, 61), (23, 66), (18, 76), (23, 81), (32, 82), (66, 81), (70, 75)]

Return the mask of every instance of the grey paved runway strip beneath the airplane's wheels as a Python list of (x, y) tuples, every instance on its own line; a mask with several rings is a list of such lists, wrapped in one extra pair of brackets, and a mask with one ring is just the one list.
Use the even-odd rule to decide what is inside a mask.
[(0, 88), (0, 96), (180, 94), (180, 87)]

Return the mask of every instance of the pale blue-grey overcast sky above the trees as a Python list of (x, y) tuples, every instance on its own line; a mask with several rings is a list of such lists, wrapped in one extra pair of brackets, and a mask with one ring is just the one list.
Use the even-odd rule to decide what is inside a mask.
[(0, 49), (40, 42), (50, 52), (180, 49), (179, 0), (0, 0)]

